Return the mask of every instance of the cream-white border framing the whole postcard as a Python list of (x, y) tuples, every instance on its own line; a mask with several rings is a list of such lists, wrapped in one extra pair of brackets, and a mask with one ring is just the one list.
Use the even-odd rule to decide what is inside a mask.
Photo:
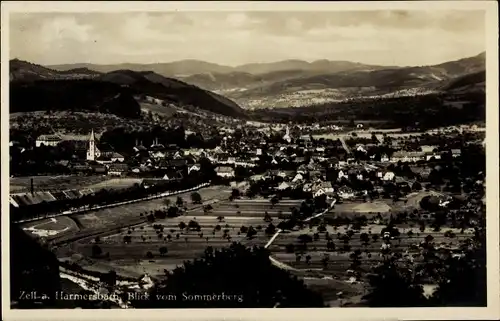
[[(498, 4), (496, 1), (414, 1), (414, 2), (28, 2), (1, 4), (2, 35), (2, 311), (4, 320), (493, 320), (500, 318), (499, 281), (499, 149), (498, 149)], [(487, 308), (329, 308), (329, 309), (198, 309), (198, 310), (11, 310), (9, 290), (9, 113), (8, 61), (9, 12), (123, 12), (123, 11), (345, 11), (345, 10), (484, 10), (486, 13), (486, 154), (487, 154)], [(6, 147), (5, 149), (3, 147)]]

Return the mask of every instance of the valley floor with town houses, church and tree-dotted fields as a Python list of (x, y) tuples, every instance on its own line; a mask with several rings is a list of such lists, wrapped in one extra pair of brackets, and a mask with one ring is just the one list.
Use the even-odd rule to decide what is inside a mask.
[[(68, 278), (97, 286), (94, 274), (110, 270), (124, 278), (114, 291), (125, 297), (207, 246), (238, 241), (314, 276), (311, 288), (331, 285), (331, 306), (362, 304), (366, 273), (391, 246), (422, 266), (430, 243), (463, 255), (483, 218), (477, 125), (411, 132), (238, 121), (220, 127), (212, 146), (195, 127), (164, 130), (184, 140), (126, 135), (120, 146), (131, 147), (117, 151), (96, 128), (76, 140), (11, 141), (11, 173), (20, 174), (11, 176), (11, 218), (56, 245)], [(432, 294), (429, 273), (418, 279)]]

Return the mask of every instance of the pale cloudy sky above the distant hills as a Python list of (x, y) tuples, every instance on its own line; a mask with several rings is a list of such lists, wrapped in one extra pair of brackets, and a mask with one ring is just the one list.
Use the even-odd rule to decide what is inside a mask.
[(484, 11), (11, 13), (10, 58), (42, 65), (236, 66), (286, 59), (421, 66), (485, 51)]

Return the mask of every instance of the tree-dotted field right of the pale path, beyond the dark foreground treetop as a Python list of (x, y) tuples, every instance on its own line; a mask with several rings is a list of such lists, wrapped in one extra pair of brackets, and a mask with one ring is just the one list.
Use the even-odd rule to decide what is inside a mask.
[[(359, 232), (356, 232), (351, 240), (347, 243), (348, 249), (345, 249), (346, 244), (340, 240), (338, 233), (345, 234), (345, 227), (334, 229), (332, 226), (327, 226), (327, 232), (333, 238), (335, 248), (328, 250), (326, 243), (325, 232), (318, 233), (317, 240), (308, 243), (307, 248), (300, 249), (302, 243), (298, 239), (301, 234), (313, 236), (317, 232), (316, 228), (302, 229), (290, 233), (280, 233), (273, 244), (269, 247), (272, 251), (274, 259), (287, 266), (293, 274), (301, 275), (304, 282), (311, 289), (321, 293), (329, 306), (357, 306), (362, 304), (362, 297), (366, 293), (366, 279), (364, 275), (370, 271), (370, 268), (382, 260), (380, 250), (382, 241), (380, 237), (377, 240), (373, 239), (374, 235), (380, 235), (382, 225), (368, 225), (363, 227)], [(444, 236), (444, 232), (451, 230), (455, 233), (455, 237), (448, 238)], [(433, 232), (432, 229), (427, 229), (420, 232), (417, 228), (399, 228), (401, 233), (398, 239), (392, 240), (392, 252), (399, 252), (403, 256), (408, 255), (408, 259), (419, 262), (418, 245), (428, 235), (431, 235), (436, 244), (436, 248), (453, 249), (457, 248), (460, 240), (472, 236), (472, 231), (466, 230), (460, 233), (459, 229), (445, 228), (441, 232)], [(413, 235), (408, 235), (411, 231)], [(361, 233), (366, 233), (369, 236), (369, 242), (363, 244), (360, 239)], [(287, 245), (293, 244), (295, 253), (287, 252)], [(355, 250), (361, 250), (359, 267), (361, 273), (360, 279), (351, 279), (349, 270), (351, 269), (352, 259), (350, 254)], [(323, 264), (323, 258), (327, 256), (328, 262)], [(309, 261), (306, 262), (306, 258)], [(337, 294), (341, 293), (339, 297)]]

